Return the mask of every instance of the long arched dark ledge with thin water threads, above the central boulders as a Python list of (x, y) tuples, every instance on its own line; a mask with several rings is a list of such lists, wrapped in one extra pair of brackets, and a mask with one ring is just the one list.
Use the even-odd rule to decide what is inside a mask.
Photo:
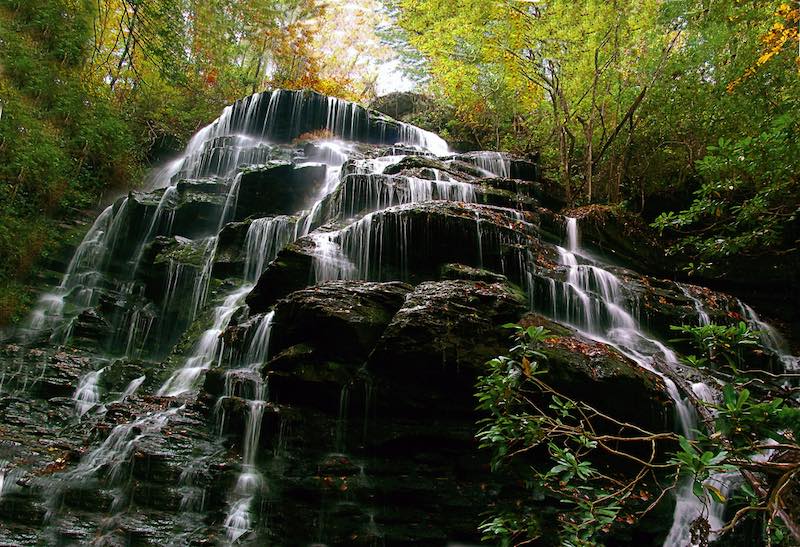
[[(301, 238), (279, 253), (247, 304), (266, 311), (278, 298), (317, 279), (436, 279), (447, 263), (480, 267), (524, 283), (523, 256), (553, 265), (555, 248), (537, 237), (524, 215), (468, 203), (423, 202), (391, 207), (341, 230)], [(342, 253), (332, 254), (336, 246)], [(328, 247), (320, 247), (322, 243)]]

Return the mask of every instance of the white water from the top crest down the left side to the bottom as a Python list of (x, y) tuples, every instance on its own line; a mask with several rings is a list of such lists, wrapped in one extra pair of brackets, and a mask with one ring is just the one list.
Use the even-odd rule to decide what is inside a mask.
[[(285, 118), (287, 101), (291, 102), (291, 123), (289, 131), (279, 123)], [(94, 306), (97, 302), (99, 287), (112, 287), (120, 298), (141, 298), (142, 291), (136, 278), (142, 271), (141, 265), (150, 244), (159, 236), (172, 236), (175, 230), (176, 210), (180, 205), (183, 192), (191, 185), (180, 186), (184, 179), (209, 184), (213, 183), (225, 189), (224, 200), (219, 208), (218, 218), (208, 222), (206, 233), (211, 234), (198, 247), (201, 256), (199, 265), (187, 265), (178, 259), (169, 258), (166, 263), (164, 293), (161, 298), (160, 316), (174, 316), (172, 310), (183, 310), (186, 321), (191, 322), (203, 308), (212, 267), (215, 260), (218, 238), (214, 235), (231, 218), (236, 209), (240, 168), (245, 165), (263, 164), (275, 158), (275, 147), (269, 141), (286, 142), (301, 132), (324, 129), (333, 135), (362, 139), (369, 142), (386, 142), (394, 144), (403, 142), (406, 145), (427, 148), (428, 153), (445, 154), (447, 145), (438, 136), (413, 126), (397, 123), (380, 116), (372, 116), (361, 107), (345, 103), (338, 99), (325, 99), (327, 110), (319, 115), (317, 106), (319, 96), (304, 93), (285, 93), (254, 95), (235, 105), (227, 107), (222, 115), (199, 131), (187, 145), (181, 158), (171, 162), (151, 178), (151, 187), (156, 189), (157, 198), (147, 202), (137, 197), (138, 203), (152, 203), (152, 209), (146, 213), (145, 222), (140, 231), (128, 234), (129, 223), (133, 219), (134, 208), (132, 197), (120, 200), (116, 205), (108, 207), (96, 219), (75, 253), (62, 283), (52, 294), (42, 297), (40, 305), (31, 317), (30, 327), (33, 331), (45, 328), (57, 328), (62, 320), (67, 303), (78, 311)], [(316, 201), (308, 213), (296, 217), (277, 216), (255, 219), (251, 222), (245, 242), (245, 281), (253, 282), (260, 275), (265, 265), (277, 252), (290, 241), (308, 233), (315, 223), (323, 221), (322, 199), (329, 195), (339, 184), (339, 171), (347, 155), (345, 145), (337, 142), (322, 143), (322, 151), (316, 159), (323, 159), (330, 165), (329, 176), (320, 188)], [(401, 160), (403, 156), (391, 156), (372, 160), (381, 170)], [(298, 163), (298, 165), (300, 165)], [(211, 188), (211, 186), (208, 186)], [(163, 190), (161, 189), (163, 188)], [(412, 200), (430, 198), (450, 199), (460, 197), (471, 200), (474, 193), (471, 186), (462, 186), (449, 181), (418, 182), (410, 181), (408, 193)], [(147, 198), (151, 199), (151, 198)], [(202, 231), (202, 229), (200, 230)], [(130, 245), (127, 240), (132, 240)], [(125, 240), (125, 245), (118, 242)], [(180, 240), (181, 245), (188, 241)], [(105, 289), (104, 289), (105, 290)], [(232, 315), (241, 305), (243, 297), (249, 292), (245, 285), (232, 291), (223, 298), (213, 312), (212, 325), (197, 341), (191, 354), (185, 359), (183, 367), (176, 370), (157, 390), (160, 397), (190, 396), (197, 388), (203, 373), (211, 366), (219, 366), (227, 359), (225, 345), (221, 336)], [(188, 299), (187, 299), (188, 295)], [(186, 313), (188, 310), (188, 313)], [(156, 310), (157, 311), (157, 310)], [(137, 352), (147, 344), (152, 332), (165, 328), (185, 328), (184, 325), (171, 324), (154, 326), (153, 317), (158, 313), (144, 313), (145, 309), (136, 308), (126, 311), (125, 315), (115, 319), (120, 334), (115, 335), (120, 344), (124, 344), (125, 353)], [(73, 316), (74, 317), (74, 316)], [(266, 392), (260, 381), (254, 380), (258, 368), (266, 361), (268, 352), (271, 315), (265, 316), (254, 328), (249, 350), (246, 352), (246, 372), (250, 387), (236, 387), (237, 382), (226, 382), (227, 396), (248, 395), (249, 416), (246, 421), (243, 443), (242, 472), (237, 486), (230, 495), (230, 507), (224, 526), (228, 540), (236, 541), (250, 528), (252, 498), (255, 495), (259, 473), (255, 467), (257, 441), (261, 416), (266, 405)], [(75, 320), (67, 320), (67, 331), (71, 332)], [(77, 386), (74, 399), (76, 412), (87, 413), (101, 403), (99, 381), (105, 368), (98, 368), (83, 375)], [(239, 371), (241, 372), (241, 371)], [(231, 376), (232, 378), (233, 376)], [(124, 402), (143, 384), (144, 376), (134, 378), (121, 392), (115, 403)], [(244, 390), (244, 391), (242, 391)], [(246, 393), (245, 393), (246, 392)], [(51, 497), (49, 503), (50, 522), (56, 522), (61, 511), (61, 499), (69, 488), (90, 479), (102, 479), (117, 492), (115, 494), (114, 513), (124, 511), (128, 497), (126, 477), (128, 465), (136, 447), (147, 438), (159, 435), (170, 420), (183, 412), (183, 406), (168, 407), (164, 410), (146, 413), (130, 422), (120, 423), (113, 427), (106, 439), (89, 451), (72, 471), (60, 479), (61, 486)], [(7, 473), (3, 473), (3, 477)], [(193, 501), (198, 489), (193, 486), (193, 473), (181, 478), (181, 484), (187, 490), (182, 507), (191, 510), (197, 505)], [(202, 489), (199, 490), (202, 492)]]

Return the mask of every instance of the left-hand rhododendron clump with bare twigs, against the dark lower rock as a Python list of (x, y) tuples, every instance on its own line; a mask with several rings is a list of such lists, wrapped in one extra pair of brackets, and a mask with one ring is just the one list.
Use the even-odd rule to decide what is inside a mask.
[[(599, 545), (616, 523), (632, 523), (648, 510), (645, 483), (674, 468), (659, 463), (661, 443), (671, 433), (651, 433), (561, 393), (546, 383), (544, 355), (537, 346), (542, 327), (506, 325), (515, 345), (508, 356), (487, 363), (478, 380), (478, 409), (489, 414), (479, 425), (481, 447), (492, 450), (492, 469), (517, 469), (531, 490), (542, 490), (560, 510), (562, 545)], [(634, 456), (642, 450), (643, 458)], [(630, 451), (630, 452), (628, 452)], [(546, 462), (544, 465), (538, 461)], [(622, 472), (631, 467), (631, 473)], [(652, 504), (650, 504), (652, 506)], [(480, 527), (484, 539), (504, 545), (533, 539), (536, 511), (504, 511)]]

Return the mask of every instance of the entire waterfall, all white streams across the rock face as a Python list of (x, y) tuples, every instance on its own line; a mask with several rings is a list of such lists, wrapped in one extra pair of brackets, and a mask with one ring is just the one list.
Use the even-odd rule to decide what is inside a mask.
[[(331, 140), (306, 145), (303, 137), (295, 142), (310, 132), (325, 132)], [(345, 140), (398, 146), (373, 154)], [(280, 146), (287, 143), (292, 144)], [(389, 155), (369, 157), (377, 153)], [(89, 448), (73, 470), (63, 473), (65, 485), (77, 486), (89, 480), (101, 482), (103, 488), (117, 494), (119, 501), (112, 511), (121, 513), (120, 503), (135, 482), (129, 471), (137, 447), (152, 436), (174, 431), (167, 428), (170, 421), (182, 417), (186, 409), (194, 411), (193, 399), (204, 378), (208, 379), (206, 385), (211, 385), (211, 380), (216, 378), (206, 374), (213, 369), (214, 373), (224, 373), (224, 387), (220, 388), (222, 394), (210, 418), (211, 422), (216, 422), (212, 425), (218, 426), (220, 438), (209, 445), (216, 450), (220, 444), (230, 441), (230, 431), (226, 432), (226, 427), (230, 429), (231, 423), (239, 423), (234, 418), (241, 418), (242, 427), (234, 442), (225, 447), (231, 453), (239, 447), (238, 476), (223, 500), (222, 513), (218, 513), (222, 518), (214, 522), (208, 519), (209, 524), (224, 528), (225, 541), (231, 543), (241, 541), (264, 524), (260, 522), (263, 520), (260, 502), (271, 475), (263, 470), (265, 458), (259, 454), (259, 445), (262, 424), (269, 419), (268, 413), (273, 408), (264, 368), (272, 357), (270, 338), (275, 311), (259, 310), (266, 313), (251, 315), (244, 301), (269, 264), (280, 256), (279, 252), (303, 236), (308, 238), (297, 248), (308, 250), (312, 255), (312, 272), (306, 279), (306, 271), (301, 271), (304, 278), (300, 283), (340, 279), (435, 279), (438, 270), (433, 272), (432, 266), (431, 272), (421, 272), (428, 266), (427, 262), (421, 264), (427, 257), (435, 256), (446, 262), (452, 255), (453, 262), (502, 272), (513, 282), (526, 286), (531, 308), (534, 308), (534, 284), (539, 281), (534, 279), (534, 258), (538, 257), (534, 257), (536, 247), (527, 236), (534, 235), (536, 227), (525, 222), (522, 214), (471, 205), (477, 201), (476, 186), (452, 180), (436, 169), (421, 169), (417, 173), (421, 173), (419, 177), (385, 173), (406, 154), (430, 157), (447, 153), (447, 144), (438, 136), (353, 103), (314, 93), (277, 90), (255, 94), (226, 107), (217, 120), (192, 137), (180, 158), (154, 173), (152, 185), (156, 191), (146, 199), (140, 199), (142, 194), (132, 194), (106, 208), (77, 248), (59, 286), (40, 298), (30, 317), (30, 330), (54, 329), (59, 335), (68, 335), (73, 323), (67, 321), (70, 319), (67, 316), (92, 306), (99, 309), (98, 302), (125, 309), (124, 313), (114, 316), (112, 323), (118, 331), (114, 339), (128, 357), (139, 357), (153, 345), (157, 335), (175, 334), (177, 339), (193, 321), (196, 321), (193, 329), (205, 330), (188, 351), (184, 351), (182, 345), (176, 346), (183, 353), (176, 352), (164, 361), (169, 365), (177, 359), (178, 365), (164, 371), (168, 378), (155, 390), (157, 397), (132, 398), (130, 403), (142, 404), (146, 413), (124, 421), (120, 417), (123, 414), (117, 416), (109, 410), (109, 420), (113, 417), (116, 421), (110, 422), (107, 437)], [(240, 218), (235, 211), (237, 205), (242, 205), (238, 201), (239, 190), (243, 187), (242, 170), (246, 166), (263, 167), (276, 159), (291, 160), (295, 166), (321, 160), (327, 165), (327, 176), (322, 185), (314, 187), (315, 195), (302, 195), (305, 201), (302, 210), (291, 216), (267, 215), (264, 210), (259, 214), (267, 216), (230, 222)], [(512, 171), (511, 160), (499, 153), (474, 154), (467, 161), (498, 177), (509, 177)], [(198, 186), (203, 188), (207, 200), (204, 203), (212, 203), (215, 208), (209, 208), (212, 213), (198, 214), (197, 226), (193, 228), (196, 227), (200, 235), (195, 234), (192, 241), (180, 237), (185, 232), (180, 229), (180, 216), (176, 216), (176, 211), (185, 199), (187, 188)], [(244, 190), (242, 192), (244, 195)], [(437, 215), (446, 222), (437, 221)], [(231, 239), (235, 241), (231, 244), (235, 249), (231, 252), (234, 258), (230, 263), (236, 264), (232, 273), (214, 272), (215, 260), (223, 263), (222, 254), (228, 251), (220, 242), (222, 229), (227, 230), (226, 235), (233, 234)], [(451, 229), (458, 231), (457, 237), (448, 232)], [(159, 239), (160, 236), (169, 236), (169, 239)], [(165, 247), (169, 252), (159, 254), (161, 269), (154, 277), (157, 283), (148, 285), (152, 280), (145, 277), (147, 271), (141, 266), (152, 259), (155, 253), (151, 250), (160, 252), (160, 245), (165, 241), (177, 242), (179, 249), (191, 250), (192, 253), (187, 254), (192, 255), (192, 260), (187, 260), (180, 252), (172, 253), (172, 247)], [(446, 244), (437, 246), (441, 241)], [(463, 243), (463, 248), (450, 252), (448, 247), (454, 246), (454, 241)], [(543, 306), (547, 308), (546, 313), (585, 336), (618, 349), (656, 374), (653, 366), (656, 359), (668, 366), (676, 365), (675, 353), (643, 329), (636, 313), (636, 295), (615, 275), (617, 270), (597, 260), (581, 246), (577, 219), (566, 220), (562, 245), (555, 247), (555, 251), (549, 247), (547, 250), (547, 260), (551, 263), (557, 253), (563, 281), (542, 280), (543, 284), (546, 282), (541, 289), (547, 298)], [(212, 282), (212, 273), (219, 279)], [(228, 276), (237, 279), (232, 283)], [(708, 324), (709, 314), (697, 293), (692, 292), (690, 286), (679, 287), (692, 302), (700, 324)], [(147, 293), (145, 288), (156, 296)], [(120, 304), (123, 301), (127, 307)], [(748, 322), (758, 327), (762, 342), (775, 351), (787, 368), (797, 367), (796, 358), (788, 355), (777, 332), (750, 308), (743, 305), (742, 310)], [(182, 357), (177, 357), (179, 355)], [(115, 385), (112, 381), (119, 381), (112, 380), (113, 376), (119, 376), (117, 372), (112, 373), (116, 365), (108, 363), (105, 360), (102, 366), (93, 365), (95, 370), (86, 372), (86, 367), (76, 373), (80, 380), (72, 393), (72, 401), (68, 402), (74, 405), (78, 417), (85, 416), (81, 425), (90, 424), (90, 416), (92, 420), (101, 417), (104, 405), (112, 408), (110, 403), (122, 403), (144, 389), (146, 377), (139, 375), (138, 370), (132, 380), (134, 375), (122, 376), (128, 381), (122, 391), (118, 391), (121, 386), (108, 387)], [(45, 366), (43, 362), (42, 370)], [(34, 375), (32, 373), (31, 378)], [(0, 376), (0, 387), (4, 378)], [(669, 378), (663, 377), (663, 380), (675, 402), (676, 429), (691, 437), (697, 427), (695, 411)], [(145, 387), (149, 390), (148, 386)], [(354, 397), (349, 389), (346, 386), (341, 390), (333, 439), (337, 451), (347, 448), (343, 430), (348, 397)], [(692, 389), (703, 400), (714, 397), (712, 389), (705, 384), (695, 383)], [(114, 391), (107, 393), (108, 390)], [(218, 393), (211, 388), (208, 391), (195, 406), (203, 406)], [(185, 406), (178, 406), (184, 403)], [(126, 405), (125, 410), (128, 406), (131, 405)], [(186, 414), (193, 417), (189, 412)], [(291, 423), (280, 424), (281, 428), (290, 426)], [(191, 461), (181, 470), (178, 484), (182, 512), (199, 512), (207, 503), (202, 475), (203, 470), (212, 465), (210, 462), (214, 462), (210, 452), (193, 452), (186, 458)], [(4, 488), (6, 491), (10, 488), (10, 477), (6, 463), (0, 462), (0, 495)], [(721, 485), (729, 484), (725, 477), (712, 480)], [(674, 523), (665, 545), (681, 545), (688, 540), (688, 526), (701, 508), (690, 486), (688, 483), (679, 485)], [(56, 490), (48, 505), (51, 517), (58, 514), (57, 501), (65, 492), (64, 488)], [(715, 528), (722, 523), (723, 509), (719, 504), (710, 507), (709, 520)], [(113, 523), (114, 519), (109, 519), (108, 524)], [(370, 526), (375, 526), (374, 521), (370, 520)]]

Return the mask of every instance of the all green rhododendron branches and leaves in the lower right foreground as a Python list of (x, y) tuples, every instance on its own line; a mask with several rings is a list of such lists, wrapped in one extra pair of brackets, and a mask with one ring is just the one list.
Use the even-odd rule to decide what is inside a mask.
[[(546, 383), (543, 354), (536, 349), (547, 332), (506, 327), (515, 331), (514, 347), (489, 361), (477, 384), (478, 408), (487, 414), (477, 438), (491, 449), (493, 470), (523, 478), (528, 488), (547, 492), (563, 508), (562, 545), (601, 545), (614, 526), (635, 523), (685, 481), (704, 507), (692, 524), (694, 542), (707, 545), (710, 505), (729, 501), (720, 480), (732, 476), (741, 477), (741, 495), (721, 533), (750, 518), (773, 545), (798, 539), (790, 500), (800, 493), (800, 409), (796, 396), (776, 396), (788, 389), (781, 375), (741, 373), (748, 356), (742, 349), (758, 339), (744, 324), (675, 327), (703, 354), (687, 358), (687, 364), (735, 373), (718, 403), (699, 408), (707, 429), (694, 432), (694, 438), (643, 431), (557, 393)], [(604, 433), (609, 425), (613, 433)], [(666, 456), (670, 445), (657, 446), (675, 440), (679, 448), (671, 457)], [(649, 447), (646, 458), (640, 443)], [(774, 451), (771, 456), (764, 456), (766, 449)], [(661, 486), (648, 492), (645, 482)], [(541, 535), (539, 514), (526, 507), (498, 508), (480, 529), (484, 539), (523, 544)]]

